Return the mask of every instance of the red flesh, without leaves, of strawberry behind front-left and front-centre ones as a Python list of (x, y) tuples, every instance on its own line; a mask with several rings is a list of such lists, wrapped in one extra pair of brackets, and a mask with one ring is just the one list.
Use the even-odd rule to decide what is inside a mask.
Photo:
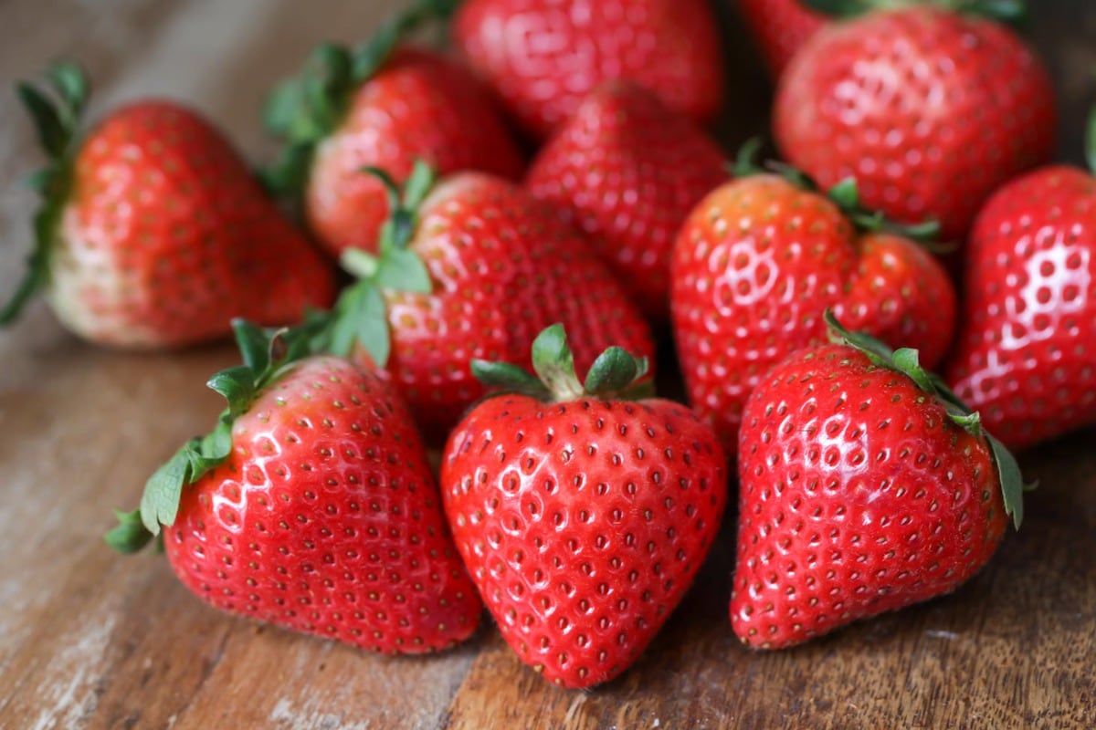
[(454, 175), (431, 193), (419, 221), (409, 247), (434, 290), (385, 292), (392, 343), (385, 370), (430, 438), (444, 441), (483, 395), (473, 358), (528, 367), (529, 346), (549, 325), (567, 327), (580, 373), (609, 345), (653, 361), (650, 327), (608, 268), (521, 187)]

